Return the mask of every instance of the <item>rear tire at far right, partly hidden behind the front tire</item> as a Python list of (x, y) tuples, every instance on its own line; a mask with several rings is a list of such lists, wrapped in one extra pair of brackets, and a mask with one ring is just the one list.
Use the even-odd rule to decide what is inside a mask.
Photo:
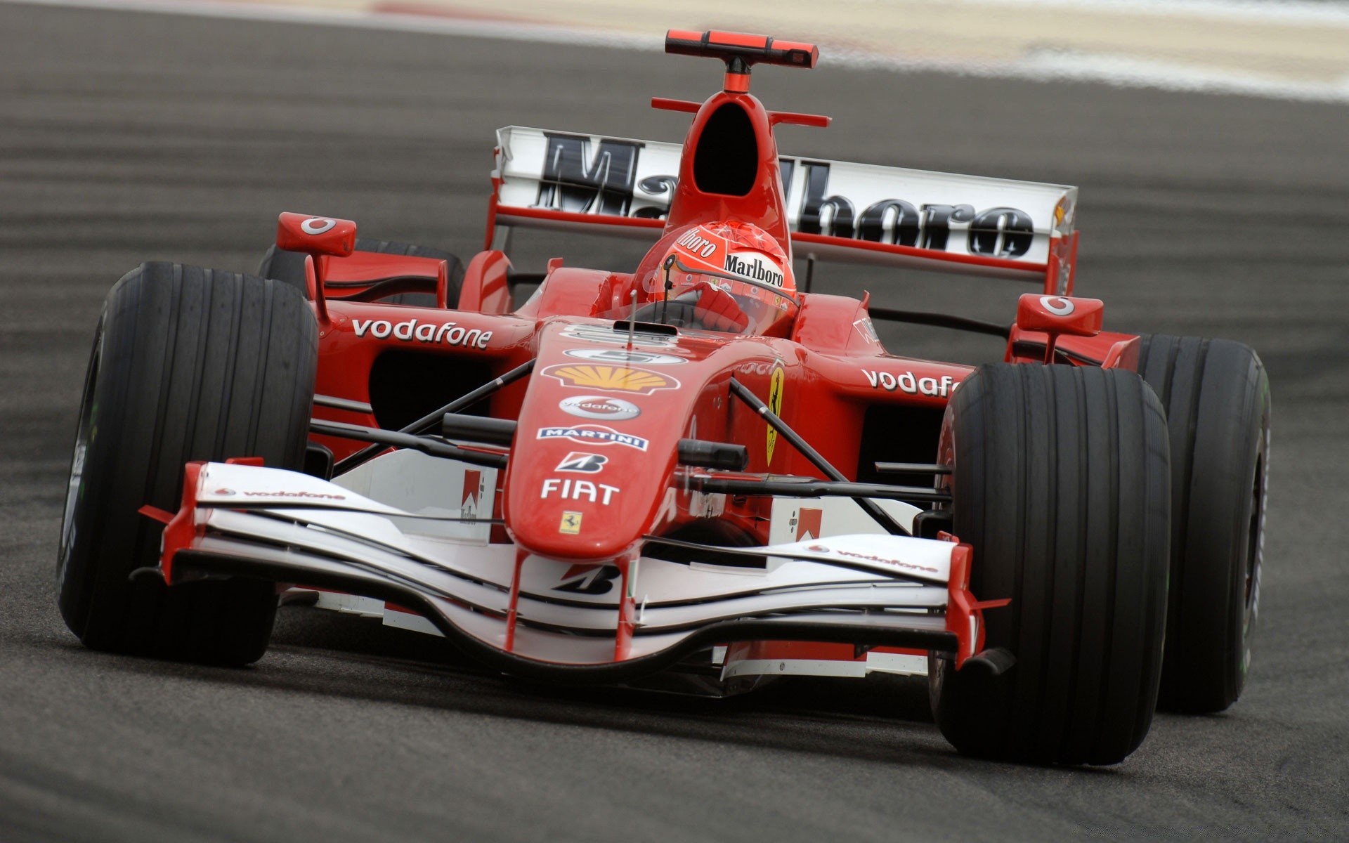
[(1163, 708), (1222, 711), (1251, 665), (1260, 603), (1269, 379), (1229, 340), (1144, 336), (1139, 374), (1171, 437), (1171, 598)]

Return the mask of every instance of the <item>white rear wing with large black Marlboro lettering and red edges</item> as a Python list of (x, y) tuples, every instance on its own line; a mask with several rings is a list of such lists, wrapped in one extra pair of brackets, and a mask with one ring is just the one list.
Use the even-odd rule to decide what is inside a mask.
[[(487, 248), (511, 227), (656, 240), (681, 151), (677, 143), (498, 129)], [(797, 255), (1072, 293), (1077, 187), (785, 155), (778, 163)]]

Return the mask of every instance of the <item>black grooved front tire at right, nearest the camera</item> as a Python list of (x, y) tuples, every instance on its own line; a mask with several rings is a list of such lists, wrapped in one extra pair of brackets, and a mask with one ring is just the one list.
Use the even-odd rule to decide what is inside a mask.
[(1167, 593), (1166, 417), (1133, 372), (979, 368), (947, 409), (952, 529), (1000, 676), (934, 658), (934, 714), (970, 755), (1116, 763), (1152, 723)]

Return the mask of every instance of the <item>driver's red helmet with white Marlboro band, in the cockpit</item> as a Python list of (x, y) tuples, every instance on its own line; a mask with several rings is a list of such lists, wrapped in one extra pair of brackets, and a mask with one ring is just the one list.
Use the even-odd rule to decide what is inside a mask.
[(768, 232), (728, 220), (704, 223), (680, 235), (661, 260), (657, 279), (670, 285), (670, 295), (711, 283), (735, 297), (784, 309), (796, 294), (792, 263)]

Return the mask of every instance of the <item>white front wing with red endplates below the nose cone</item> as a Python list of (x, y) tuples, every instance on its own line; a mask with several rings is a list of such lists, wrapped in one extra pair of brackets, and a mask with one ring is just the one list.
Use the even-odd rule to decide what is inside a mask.
[[(170, 584), (255, 577), (362, 595), (424, 615), (502, 670), (615, 682), (741, 641), (896, 646), (962, 664), (982, 646), (970, 549), (898, 535), (706, 548), (719, 564), (542, 558), (449, 514), (410, 513), (308, 475), (192, 463), (156, 573)], [(434, 513), (434, 511), (433, 511)], [(482, 525), (469, 519), (465, 527)], [(451, 527), (451, 529), (447, 529)], [(727, 554), (745, 566), (726, 565)], [(588, 576), (587, 576), (588, 575)]]

